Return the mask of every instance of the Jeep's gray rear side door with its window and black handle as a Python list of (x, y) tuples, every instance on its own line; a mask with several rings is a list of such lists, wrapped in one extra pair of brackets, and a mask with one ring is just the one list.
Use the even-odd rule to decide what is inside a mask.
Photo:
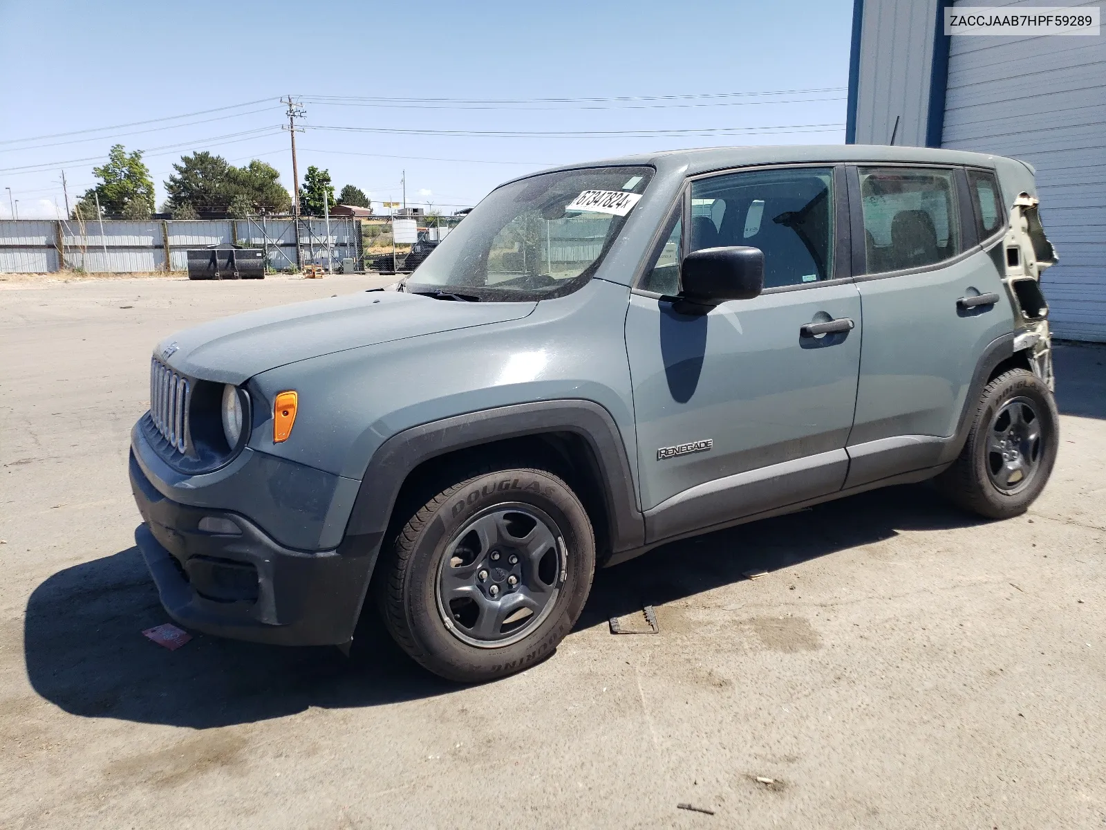
[(979, 359), (1012, 331), (998, 184), (990, 174), (972, 186), (992, 205), (979, 225), (962, 169), (849, 170), (864, 345), (846, 487), (938, 464)]

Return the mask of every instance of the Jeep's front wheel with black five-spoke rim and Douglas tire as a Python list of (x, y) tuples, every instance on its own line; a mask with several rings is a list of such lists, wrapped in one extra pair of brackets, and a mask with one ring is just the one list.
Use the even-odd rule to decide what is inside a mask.
[(427, 501), (382, 566), (379, 601), (399, 646), (435, 674), (479, 683), (554, 652), (591, 591), (595, 538), (563, 480), (505, 469)]

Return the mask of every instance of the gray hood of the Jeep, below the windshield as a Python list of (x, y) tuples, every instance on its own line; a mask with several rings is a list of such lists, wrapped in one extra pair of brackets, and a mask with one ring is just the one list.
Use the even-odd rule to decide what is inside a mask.
[(535, 305), (361, 291), (204, 323), (166, 338), (157, 344), (155, 354), (186, 375), (239, 384), (260, 372), (307, 357), (518, 320)]

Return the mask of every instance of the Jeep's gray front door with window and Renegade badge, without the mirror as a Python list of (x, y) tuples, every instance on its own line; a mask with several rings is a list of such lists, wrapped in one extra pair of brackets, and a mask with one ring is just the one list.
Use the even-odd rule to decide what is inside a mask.
[[(842, 172), (691, 183), (626, 318), (641, 504), (656, 541), (839, 489), (860, 359), (860, 299), (838, 256)], [(765, 289), (678, 312), (681, 251), (753, 246)], [(836, 321), (836, 333), (804, 326)], [(846, 322), (848, 321), (848, 322)]]

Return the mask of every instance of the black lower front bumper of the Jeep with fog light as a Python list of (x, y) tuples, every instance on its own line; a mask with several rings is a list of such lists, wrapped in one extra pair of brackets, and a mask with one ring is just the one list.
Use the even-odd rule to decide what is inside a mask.
[[(375, 549), (285, 548), (239, 513), (170, 500), (150, 484), (133, 452), (129, 473), (144, 520), (135, 542), (176, 622), (281, 645), (352, 640)], [(200, 529), (201, 519), (208, 519), (207, 530)], [(240, 532), (222, 532), (232, 526)]]

